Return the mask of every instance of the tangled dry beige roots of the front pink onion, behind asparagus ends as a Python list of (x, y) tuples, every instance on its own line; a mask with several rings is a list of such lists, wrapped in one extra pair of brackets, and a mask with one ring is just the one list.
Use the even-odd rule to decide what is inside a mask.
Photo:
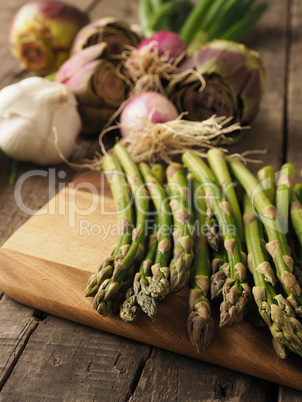
[[(136, 163), (149, 162), (151, 164), (157, 161), (172, 163), (177, 155), (186, 151), (192, 151), (203, 157), (207, 157), (207, 150), (218, 144), (229, 144), (229, 134), (242, 132), (249, 127), (241, 126), (240, 123), (229, 125), (232, 117), (211, 116), (201, 122), (183, 120), (183, 115), (177, 119), (166, 123), (152, 123), (147, 121), (144, 131), (132, 130), (128, 137), (120, 139), (118, 142), (125, 145), (128, 152)], [(119, 129), (119, 125), (110, 126), (103, 130), (99, 136), (101, 153), (96, 152), (92, 160), (82, 160), (81, 163), (69, 162), (58, 146), (56, 148), (61, 159), (69, 166), (75, 169), (101, 170), (104, 155), (108, 153), (103, 143), (103, 137), (110, 131)], [(56, 141), (55, 141), (56, 142)], [(226, 150), (223, 150), (227, 152)], [(262, 163), (261, 160), (248, 159), (250, 154), (264, 154), (266, 150), (246, 151), (243, 154), (233, 154), (232, 157), (243, 161), (244, 163)]]

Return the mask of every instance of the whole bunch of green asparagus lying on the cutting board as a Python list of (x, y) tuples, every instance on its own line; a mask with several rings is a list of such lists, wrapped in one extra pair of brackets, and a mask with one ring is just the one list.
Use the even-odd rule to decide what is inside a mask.
[(257, 180), (218, 148), (207, 159), (209, 166), (188, 151), (183, 164), (136, 165), (121, 144), (104, 157), (120, 230), (85, 295), (102, 316), (119, 312), (134, 323), (141, 311), (154, 320), (160, 302), (187, 287), (198, 352), (214, 332), (210, 299), (221, 299), (220, 328), (257, 306), (277, 354), (302, 356), (302, 185), (292, 189), (294, 166), (282, 166), (276, 185), (272, 167)]

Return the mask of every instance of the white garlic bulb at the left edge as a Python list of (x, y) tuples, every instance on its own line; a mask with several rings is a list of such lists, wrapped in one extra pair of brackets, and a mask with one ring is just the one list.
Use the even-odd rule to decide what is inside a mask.
[(63, 84), (26, 78), (0, 91), (0, 148), (13, 159), (55, 165), (68, 158), (82, 122), (73, 93)]

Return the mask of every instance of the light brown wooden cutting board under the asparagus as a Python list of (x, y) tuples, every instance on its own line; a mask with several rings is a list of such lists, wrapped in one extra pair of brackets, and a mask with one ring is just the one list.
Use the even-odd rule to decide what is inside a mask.
[(203, 354), (191, 346), (186, 329), (186, 291), (160, 304), (156, 321), (141, 314), (137, 323), (99, 316), (83, 296), (87, 280), (116, 240), (115, 207), (100, 173), (87, 172), (61, 190), (0, 249), (0, 288), (39, 310), (186, 356), (302, 390), (302, 360), (279, 359), (265, 329), (243, 321), (218, 328)]

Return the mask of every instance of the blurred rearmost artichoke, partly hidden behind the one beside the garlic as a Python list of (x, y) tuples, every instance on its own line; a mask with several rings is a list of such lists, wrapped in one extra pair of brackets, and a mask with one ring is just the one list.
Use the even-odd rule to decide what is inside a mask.
[(100, 42), (108, 44), (111, 55), (120, 55), (128, 46), (137, 46), (140, 38), (128, 24), (114, 18), (101, 18), (78, 32), (72, 44), (71, 54)]

